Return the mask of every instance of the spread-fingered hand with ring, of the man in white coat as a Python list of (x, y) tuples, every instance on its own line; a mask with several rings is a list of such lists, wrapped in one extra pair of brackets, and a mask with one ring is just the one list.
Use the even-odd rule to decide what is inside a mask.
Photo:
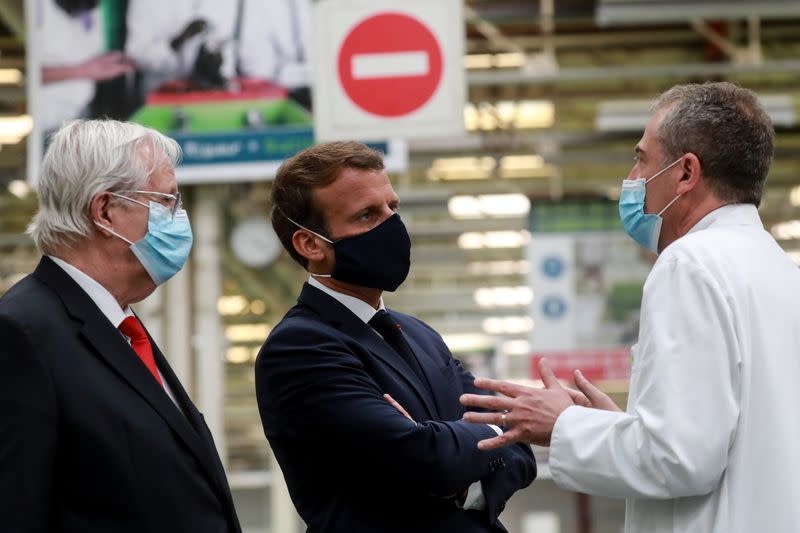
[[(478, 378), (475, 386), (499, 392), (503, 396), (480, 396), (464, 394), (461, 404), (500, 412), (478, 413), (469, 411), (464, 420), (474, 423), (505, 426), (505, 433), (492, 439), (482, 440), (478, 447), (492, 450), (514, 442), (527, 442), (541, 446), (550, 445), (550, 434), (558, 416), (575, 404), (573, 396), (550, 369), (546, 359), (539, 361), (544, 388), (525, 387), (507, 381)], [(573, 391), (577, 392), (577, 391)]]

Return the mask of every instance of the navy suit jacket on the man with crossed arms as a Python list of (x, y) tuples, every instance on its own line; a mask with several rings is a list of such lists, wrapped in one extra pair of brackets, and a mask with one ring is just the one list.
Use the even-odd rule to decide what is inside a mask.
[[(505, 531), (498, 514), (536, 476), (530, 447), (478, 450), (496, 433), (460, 420), (458, 398), (478, 392), (474, 378), (430, 327), (393, 314), (430, 387), (370, 326), (308, 284), (262, 347), (258, 406), (292, 501), (314, 533)], [(458, 508), (450, 497), (478, 480), (486, 510)]]

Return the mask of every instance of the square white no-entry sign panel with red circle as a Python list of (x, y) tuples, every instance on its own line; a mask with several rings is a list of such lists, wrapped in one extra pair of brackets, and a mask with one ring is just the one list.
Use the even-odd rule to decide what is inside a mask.
[(463, 133), (461, 0), (314, 6), (317, 140)]

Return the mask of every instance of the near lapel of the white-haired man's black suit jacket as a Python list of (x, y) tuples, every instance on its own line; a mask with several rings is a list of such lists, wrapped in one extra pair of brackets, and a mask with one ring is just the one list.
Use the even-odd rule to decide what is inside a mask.
[[(92, 351), (150, 404), (184, 442), (198, 462), (203, 465), (203, 468), (208, 469), (208, 450), (205, 448), (200, 434), (189, 425), (188, 419), (180, 413), (164, 389), (153, 379), (153, 375), (133, 351), (133, 348), (83, 289), (61, 267), (47, 257), (42, 258), (35, 275), (58, 295), (69, 314), (82, 323), (79, 328), (80, 335), (93, 349)], [(180, 391), (185, 396), (183, 387), (180, 387), (172, 369), (169, 368), (169, 364), (152, 339), (150, 344), (155, 348), (153, 355), (157, 357), (156, 364), (159, 370), (162, 371), (162, 374), (166, 372), (169, 375), (168, 383), (172, 390)], [(157, 356), (156, 353), (158, 353)], [(177, 385), (177, 387), (173, 385)], [(212, 475), (212, 479), (216, 479), (211, 472), (209, 474)]]

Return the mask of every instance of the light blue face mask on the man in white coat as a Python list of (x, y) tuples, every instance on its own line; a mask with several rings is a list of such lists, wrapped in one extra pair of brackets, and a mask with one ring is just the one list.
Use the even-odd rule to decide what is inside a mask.
[(619, 194), (619, 218), (622, 220), (625, 233), (655, 254), (658, 253), (658, 238), (661, 235), (661, 224), (664, 222), (661, 215), (681, 195), (673, 198), (658, 214), (646, 214), (644, 212), (644, 197), (647, 192), (645, 185), (674, 167), (681, 159), (683, 156), (653, 174), (649, 179), (622, 180), (622, 190)]

